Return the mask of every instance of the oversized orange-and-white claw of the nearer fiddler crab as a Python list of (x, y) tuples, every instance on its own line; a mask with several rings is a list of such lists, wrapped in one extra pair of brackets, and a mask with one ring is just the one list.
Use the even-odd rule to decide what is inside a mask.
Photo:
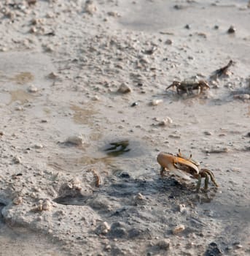
[[(173, 154), (160, 152), (157, 156), (157, 162), (161, 167), (171, 170), (171, 172), (186, 180), (190, 180), (190, 176), (187, 176), (187, 172), (183, 170), (185, 167), (187, 167), (188, 170), (192, 170), (193, 176), (200, 173), (200, 169), (197, 165), (182, 157), (176, 157)], [(190, 175), (192, 174), (190, 173)]]

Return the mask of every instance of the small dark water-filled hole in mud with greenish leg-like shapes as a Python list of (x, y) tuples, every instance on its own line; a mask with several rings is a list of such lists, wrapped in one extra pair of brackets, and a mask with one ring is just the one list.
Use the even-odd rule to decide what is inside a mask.
[(129, 140), (114, 141), (109, 143), (109, 146), (104, 148), (104, 151), (106, 151), (106, 154), (109, 157), (119, 157), (120, 155), (125, 154), (131, 150), (129, 146)]

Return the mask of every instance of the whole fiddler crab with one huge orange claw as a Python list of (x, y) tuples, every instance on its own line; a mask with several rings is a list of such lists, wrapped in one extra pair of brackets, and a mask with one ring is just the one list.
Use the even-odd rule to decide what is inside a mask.
[(214, 173), (211, 170), (200, 168), (200, 162), (192, 159), (192, 154), (190, 157), (186, 157), (179, 152), (176, 155), (170, 153), (160, 152), (157, 156), (157, 162), (161, 166), (160, 175), (163, 176), (166, 169), (170, 170), (173, 174), (180, 176), (186, 180), (190, 180), (190, 176), (198, 179), (196, 191), (199, 192), (201, 178), (205, 178), (204, 190), (208, 190), (209, 178), (213, 182), (215, 187), (219, 187), (215, 181)]

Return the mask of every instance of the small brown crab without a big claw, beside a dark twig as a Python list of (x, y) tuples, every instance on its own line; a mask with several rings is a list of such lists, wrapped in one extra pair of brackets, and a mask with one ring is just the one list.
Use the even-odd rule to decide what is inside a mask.
[(176, 87), (177, 94), (187, 95), (194, 94), (194, 91), (197, 91), (196, 95), (202, 94), (204, 90), (210, 89), (208, 83), (204, 80), (183, 80), (182, 82), (173, 81), (173, 83), (166, 88), (166, 90), (171, 87)]

